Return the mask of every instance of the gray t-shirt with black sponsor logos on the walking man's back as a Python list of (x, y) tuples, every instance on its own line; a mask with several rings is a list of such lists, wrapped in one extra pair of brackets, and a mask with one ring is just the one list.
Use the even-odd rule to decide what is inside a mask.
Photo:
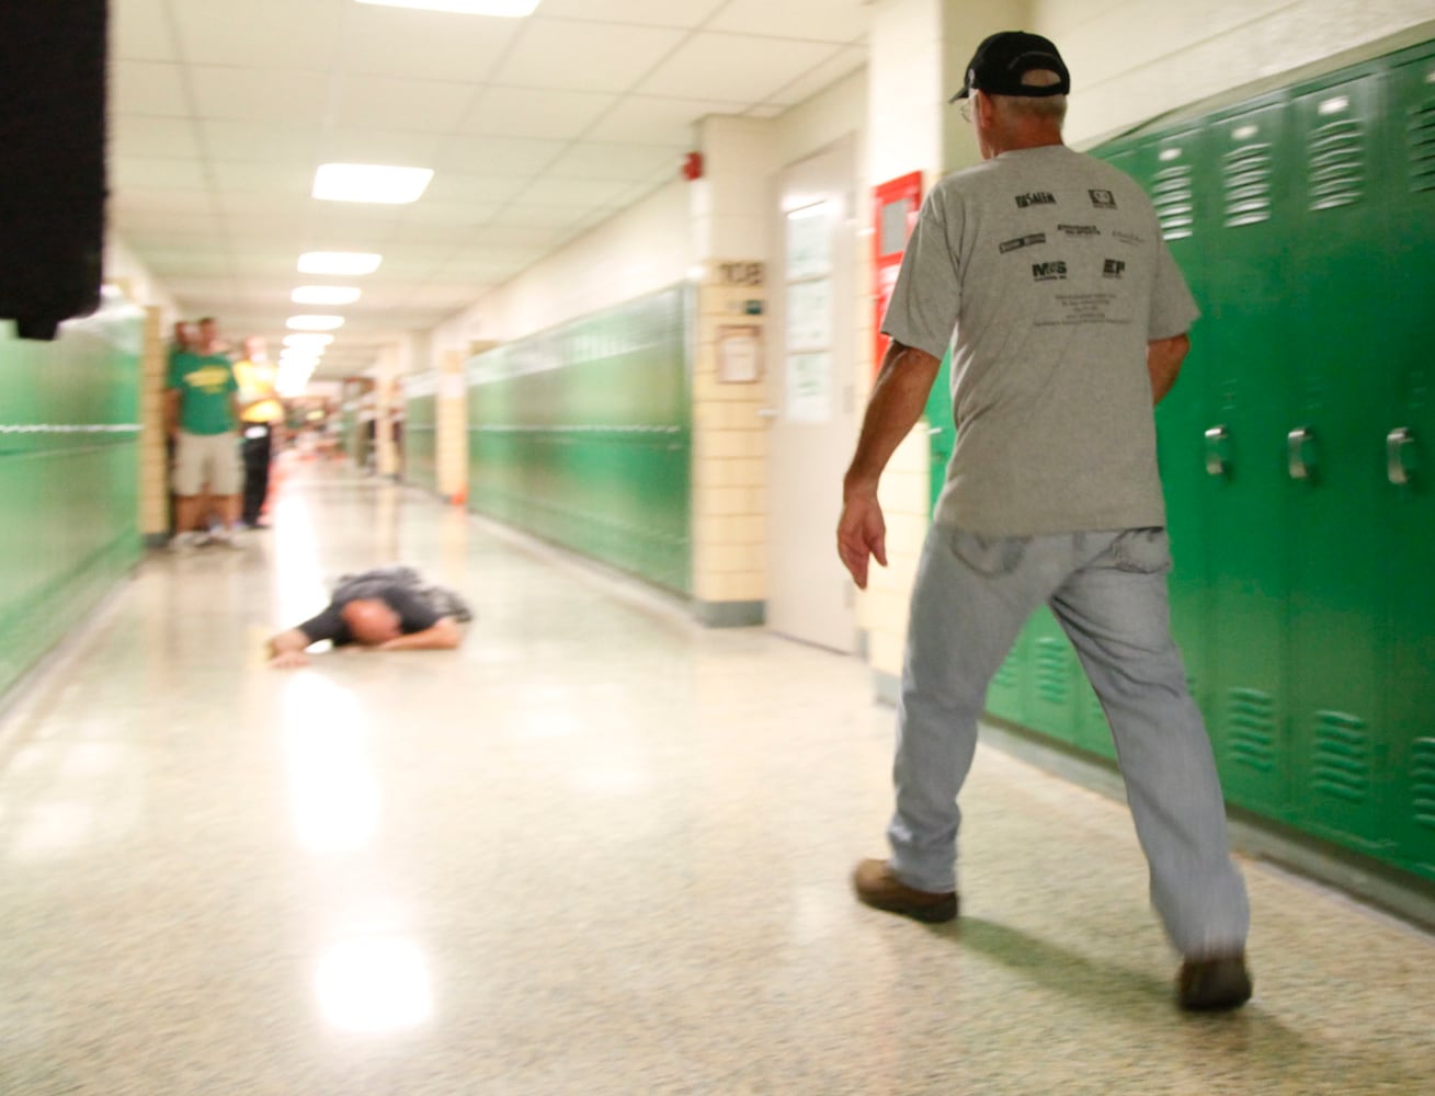
[(993, 537), (1164, 525), (1147, 343), (1198, 314), (1118, 169), (1046, 145), (938, 182), (883, 321), (934, 357), (953, 347), (936, 521)]

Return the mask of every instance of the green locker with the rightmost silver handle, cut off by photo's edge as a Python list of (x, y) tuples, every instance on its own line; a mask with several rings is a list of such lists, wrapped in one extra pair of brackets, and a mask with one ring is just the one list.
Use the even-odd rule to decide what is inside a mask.
[(1435, 878), (1435, 49), (1403, 55), (1388, 82), (1395, 392), (1379, 422), (1389, 529), (1383, 717), (1396, 856)]

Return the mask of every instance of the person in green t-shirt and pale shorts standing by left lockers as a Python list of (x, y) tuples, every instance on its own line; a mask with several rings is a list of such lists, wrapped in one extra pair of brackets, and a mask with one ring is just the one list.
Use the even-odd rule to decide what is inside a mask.
[(220, 544), (237, 547), (240, 524), (238, 383), (234, 364), (222, 353), (212, 318), (199, 321), (198, 347), (184, 349), (169, 360), (165, 392), (165, 426), (175, 439), (177, 551), (198, 541), (199, 492), (208, 483), (220, 508), (222, 526), (212, 534)]

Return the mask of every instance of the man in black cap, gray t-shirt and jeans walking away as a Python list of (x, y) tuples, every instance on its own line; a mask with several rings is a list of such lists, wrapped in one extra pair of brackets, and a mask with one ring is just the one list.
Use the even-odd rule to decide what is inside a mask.
[(891, 855), (857, 897), (918, 921), (957, 915), (957, 793), (987, 684), (1050, 605), (1111, 723), (1151, 898), (1182, 955), (1184, 1008), (1251, 993), (1246, 884), (1171, 640), (1171, 567), (1152, 405), (1197, 308), (1141, 188), (1068, 149), (1071, 76), (1023, 32), (973, 56), (963, 113), (983, 164), (923, 205), (883, 331), (891, 347), (842, 483), (838, 551), (858, 587), (885, 565), (877, 482), (951, 344), (957, 445), (918, 565), (897, 716)]

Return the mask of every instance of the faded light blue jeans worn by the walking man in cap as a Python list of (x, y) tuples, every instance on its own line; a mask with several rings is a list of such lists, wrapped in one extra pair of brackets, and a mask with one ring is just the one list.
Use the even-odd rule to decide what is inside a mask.
[(1151, 901), (1184, 955), (1246, 944), (1211, 743), (1171, 638), (1164, 529), (1050, 537), (927, 534), (897, 716), (891, 865), (910, 887), (956, 888), (957, 792), (987, 684), (1042, 603), (1101, 699), (1151, 869)]

